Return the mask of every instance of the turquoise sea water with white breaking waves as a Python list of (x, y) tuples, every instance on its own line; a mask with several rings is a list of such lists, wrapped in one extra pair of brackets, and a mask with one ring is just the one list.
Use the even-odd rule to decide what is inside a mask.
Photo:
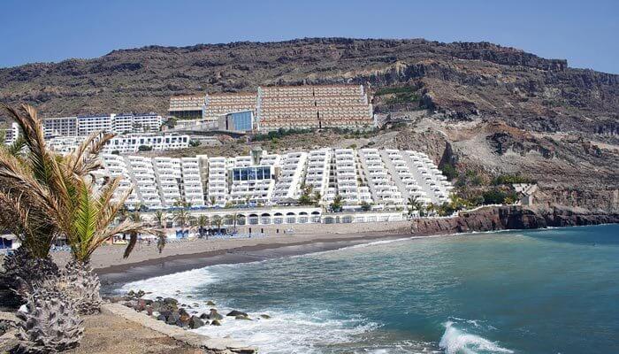
[(372, 242), (125, 288), (270, 314), (200, 329), (264, 353), (619, 353), (619, 226)]

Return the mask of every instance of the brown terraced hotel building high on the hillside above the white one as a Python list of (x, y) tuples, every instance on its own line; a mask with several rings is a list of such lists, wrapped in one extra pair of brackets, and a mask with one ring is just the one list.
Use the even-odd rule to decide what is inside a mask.
[(363, 85), (265, 86), (256, 93), (170, 99), (169, 113), (180, 119), (192, 116), (215, 122), (232, 112), (251, 112), (251, 130), (258, 131), (325, 127), (365, 130), (374, 126), (372, 105)]

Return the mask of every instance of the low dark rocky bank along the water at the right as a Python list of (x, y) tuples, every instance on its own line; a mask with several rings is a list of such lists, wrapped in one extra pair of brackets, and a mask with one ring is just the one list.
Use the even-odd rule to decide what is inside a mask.
[(443, 219), (414, 219), (412, 234), (441, 235), (466, 232), (569, 227), (619, 223), (619, 213), (591, 212), (565, 206), (489, 206)]

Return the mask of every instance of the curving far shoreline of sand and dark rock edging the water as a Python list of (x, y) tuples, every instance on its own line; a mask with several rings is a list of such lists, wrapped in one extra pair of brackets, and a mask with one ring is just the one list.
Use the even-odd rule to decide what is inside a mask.
[[(547, 227), (592, 226), (618, 223), (619, 214), (594, 214), (571, 208), (539, 210), (515, 206), (487, 207), (461, 212), (454, 218), (414, 219), (383, 225), (364, 225), (358, 229), (340, 229), (322, 225), (298, 235), (271, 235), (244, 239), (211, 239), (172, 242), (164, 254), (154, 246), (136, 247), (128, 259), (122, 258), (124, 247), (103, 247), (92, 259), (92, 266), (102, 281), (103, 292), (118, 289), (126, 282), (179, 273), (204, 266), (239, 264), (272, 258), (298, 256), (325, 250), (338, 250), (357, 244), (406, 237), (458, 235), (469, 233), (546, 229)], [(341, 224), (339, 224), (341, 226)], [(351, 224), (353, 227), (355, 224)], [(322, 228), (322, 229), (321, 229)], [(165, 253), (169, 253), (165, 255)], [(56, 255), (62, 263), (66, 254)], [(64, 259), (63, 259), (64, 258)]]

